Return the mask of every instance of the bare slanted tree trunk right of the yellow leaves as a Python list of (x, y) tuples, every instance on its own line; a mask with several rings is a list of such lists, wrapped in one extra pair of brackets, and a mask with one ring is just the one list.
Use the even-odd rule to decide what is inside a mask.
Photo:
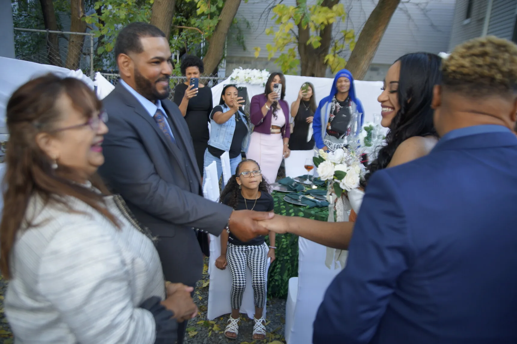
[(399, 3), (400, 0), (379, 0), (372, 14), (368, 17), (352, 51), (352, 55), (350, 55), (346, 63), (346, 69), (352, 73), (354, 79), (362, 80), (364, 75), (366, 75), (370, 63), (377, 52), (379, 43), (381, 43), (381, 39), (384, 36), (384, 32)]

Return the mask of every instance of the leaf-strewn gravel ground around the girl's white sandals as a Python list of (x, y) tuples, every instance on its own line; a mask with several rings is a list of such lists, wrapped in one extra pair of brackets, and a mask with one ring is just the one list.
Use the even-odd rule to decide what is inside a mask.
[[(208, 263), (206, 258), (205, 263)], [(208, 303), (208, 273), (207, 266), (203, 271), (203, 279), (199, 281), (194, 296), (195, 303), (199, 307), (199, 315), (189, 322), (188, 334), (185, 338), (185, 344), (259, 344), (271, 343), (281, 344), (285, 343), (283, 338), (284, 333), (284, 316), (285, 316), (285, 300), (273, 299), (267, 301), (267, 319), (266, 331), (267, 336), (264, 340), (253, 340), (253, 320), (248, 319), (247, 316), (242, 316), (242, 321), (239, 326), (239, 335), (237, 340), (230, 340), (224, 336), (224, 328), (228, 315), (219, 317), (215, 321), (206, 320), (206, 310)], [(4, 293), (7, 283), (0, 275), (0, 343), (12, 344), (13, 338), (9, 324), (4, 315)], [(228, 291), (230, 292), (230, 291)]]

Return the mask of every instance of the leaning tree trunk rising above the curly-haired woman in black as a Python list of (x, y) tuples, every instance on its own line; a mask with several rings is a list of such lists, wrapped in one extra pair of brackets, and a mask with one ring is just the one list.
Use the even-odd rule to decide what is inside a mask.
[(203, 58), (205, 65), (205, 74), (212, 74), (216, 71), (219, 62), (224, 54), (224, 42), (228, 36), (228, 30), (232, 25), (235, 14), (239, 9), (241, 0), (226, 0), (224, 7), (219, 15), (219, 22), (217, 23), (214, 34), (208, 42), (208, 51)]

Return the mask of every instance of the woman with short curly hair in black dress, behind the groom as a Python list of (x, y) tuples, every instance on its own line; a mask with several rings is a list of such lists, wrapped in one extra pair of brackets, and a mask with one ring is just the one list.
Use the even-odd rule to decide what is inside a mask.
[(203, 61), (199, 57), (185, 56), (181, 61), (181, 74), (187, 77), (187, 81), (178, 84), (174, 89), (174, 103), (178, 105), (187, 121), (201, 175), (203, 175), (203, 159), (210, 138), (208, 124), (212, 112), (212, 91), (201, 83), (199, 88), (193, 89), (190, 78), (199, 78), (204, 70)]

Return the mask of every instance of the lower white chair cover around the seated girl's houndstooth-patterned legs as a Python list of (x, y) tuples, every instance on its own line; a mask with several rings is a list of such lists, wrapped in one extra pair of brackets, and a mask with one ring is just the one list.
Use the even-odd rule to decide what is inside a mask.
[[(266, 245), (266, 243), (264, 243)], [(216, 259), (221, 255), (221, 239), (210, 235), (210, 286), (208, 288), (208, 312), (207, 319), (213, 320), (232, 312), (230, 306), (230, 291), (232, 289), (232, 275), (230, 268), (224, 270), (216, 268)], [(267, 271), (269, 270), (270, 258), (267, 258), (266, 266), (266, 285)], [(211, 267), (211, 269), (210, 269)], [(245, 313), (250, 319), (255, 315), (255, 304), (253, 302), (253, 287), (251, 286), (251, 271), (246, 268), (246, 290), (242, 296), (240, 313)], [(266, 307), (264, 306), (264, 318), (266, 317)]]

